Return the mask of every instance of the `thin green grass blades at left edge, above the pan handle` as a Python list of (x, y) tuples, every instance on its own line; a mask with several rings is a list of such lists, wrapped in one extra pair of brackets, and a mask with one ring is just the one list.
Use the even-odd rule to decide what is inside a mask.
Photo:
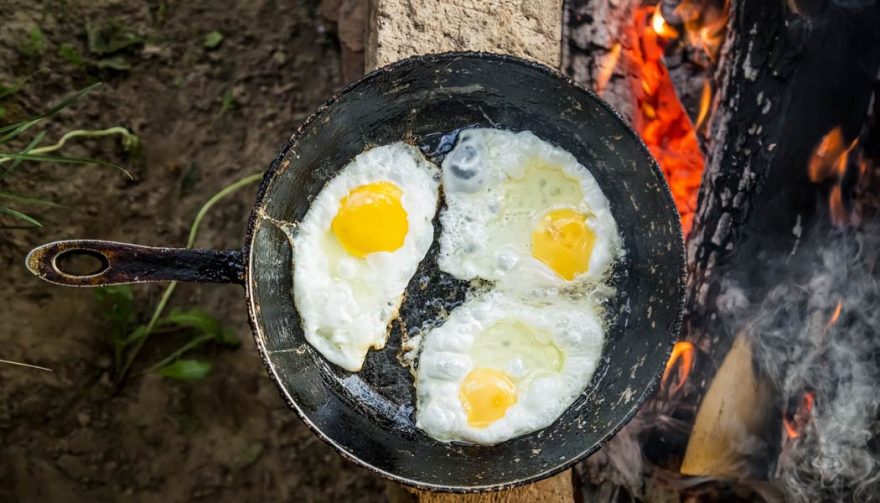
[[(0, 100), (17, 92), (18, 89), (21, 88), (21, 85), (23, 83), (24, 82), (21, 82), (11, 87), (0, 86)], [(38, 124), (52, 117), (59, 111), (67, 108), (76, 100), (95, 89), (98, 85), (100, 85), (100, 83), (93, 84), (71, 94), (54, 106), (50, 107), (47, 111), (35, 117), (31, 117), (29, 119), (25, 119), (23, 121), (13, 124), (0, 126), (0, 214), (7, 215), (20, 222), (24, 222), (31, 227), (42, 227), (42, 224), (39, 220), (17, 208), (13, 208), (11, 205), (18, 203), (38, 206), (58, 206), (51, 201), (46, 201), (28, 195), (13, 194), (11, 192), (2, 190), (3, 180), (7, 176), (11, 175), (24, 162), (98, 164), (119, 169), (129, 178), (131, 178), (131, 174), (129, 174), (128, 171), (110, 162), (101, 161), (98, 159), (50, 155), (53, 152), (60, 150), (69, 140), (73, 138), (102, 136), (119, 136), (122, 139), (123, 148), (125, 148), (126, 151), (132, 151), (137, 148), (139, 140), (137, 136), (135, 136), (131, 131), (124, 127), (117, 126), (108, 129), (77, 129), (73, 131), (68, 131), (63, 136), (61, 136), (61, 139), (59, 139), (54, 144), (45, 146), (40, 146), (40, 144), (45, 139), (46, 131), (40, 131), (36, 133), (30, 140), (25, 140), (23, 138), (23, 135), (32, 131), (32, 128), (34, 126), (37, 126)], [(8, 149), (9, 147), (7, 146), (12, 141), (17, 141), (20, 143), (24, 143), (26, 141), (27, 143), (23, 148)]]

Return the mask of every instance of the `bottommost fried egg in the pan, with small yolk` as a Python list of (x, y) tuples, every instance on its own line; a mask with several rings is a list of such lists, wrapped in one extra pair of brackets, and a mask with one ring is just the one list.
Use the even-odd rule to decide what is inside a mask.
[(484, 445), (545, 428), (583, 392), (603, 341), (599, 309), (583, 299), (471, 299), (421, 344), (416, 426)]

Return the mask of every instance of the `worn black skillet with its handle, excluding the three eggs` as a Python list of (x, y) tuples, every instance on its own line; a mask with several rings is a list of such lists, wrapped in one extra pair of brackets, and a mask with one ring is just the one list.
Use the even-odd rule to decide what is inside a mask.
[[(437, 270), (435, 247), (407, 288), (382, 351), (352, 374), (328, 364), (300, 330), (292, 300), (291, 247), (282, 227), (355, 155), (405, 140), (442, 158), (468, 126), (530, 130), (571, 152), (611, 202), (626, 257), (603, 360), (586, 391), (551, 426), (494, 446), (437, 442), (414, 426), (412, 377), (397, 361), (401, 333), (466, 287)], [(61, 255), (102, 261), (87, 276), (61, 271)], [(62, 285), (150, 281), (233, 282), (245, 287), (260, 356), (288, 405), (342, 456), (423, 489), (484, 491), (533, 482), (571, 466), (614, 435), (653, 392), (682, 314), (684, 248), (663, 175), (632, 129), (603, 101), (559, 73), (510, 56), (449, 53), (379, 69), (322, 105), (266, 172), (242, 251), (59, 241), (28, 267)]]

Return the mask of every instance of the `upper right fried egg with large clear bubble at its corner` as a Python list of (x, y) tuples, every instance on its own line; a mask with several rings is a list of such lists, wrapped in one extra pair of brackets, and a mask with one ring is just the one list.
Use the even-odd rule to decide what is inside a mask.
[(468, 129), (442, 164), (438, 263), (458, 279), (560, 287), (603, 279), (620, 250), (590, 172), (528, 131)]

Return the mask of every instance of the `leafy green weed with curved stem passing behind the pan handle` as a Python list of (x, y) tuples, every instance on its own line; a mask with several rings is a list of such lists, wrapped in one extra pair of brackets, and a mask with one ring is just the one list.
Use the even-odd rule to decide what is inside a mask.
[[(193, 247), (202, 219), (215, 204), (237, 190), (257, 183), (262, 177), (263, 175), (258, 173), (242, 178), (211, 196), (193, 219), (186, 247)], [(137, 313), (130, 286), (109, 286), (95, 292), (104, 317), (112, 329), (111, 341), (117, 384), (124, 381), (147, 339), (156, 333), (174, 331), (184, 333), (187, 336), (187, 341), (184, 344), (146, 369), (148, 372), (158, 372), (165, 377), (178, 380), (201, 379), (211, 372), (210, 362), (183, 358), (190, 351), (207, 344), (226, 347), (236, 347), (240, 344), (232, 331), (223, 327), (212, 315), (200, 309), (175, 309), (164, 315), (165, 307), (176, 287), (176, 282), (169, 283), (165, 287), (149, 321), (140, 325), (135, 325)]]

